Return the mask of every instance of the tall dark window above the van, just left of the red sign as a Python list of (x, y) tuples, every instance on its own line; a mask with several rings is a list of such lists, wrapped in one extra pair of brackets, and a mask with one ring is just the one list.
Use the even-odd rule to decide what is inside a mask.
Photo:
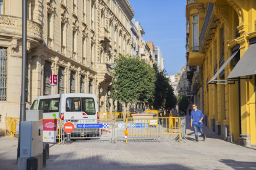
[(51, 95), (51, 63), (45, 61), (45, 67), (43, 71), (43, 95)]

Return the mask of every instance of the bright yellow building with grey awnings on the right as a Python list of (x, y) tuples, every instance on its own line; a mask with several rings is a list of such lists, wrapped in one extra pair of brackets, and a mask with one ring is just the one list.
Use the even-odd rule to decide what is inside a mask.
[(186, 18), (205, 125), (229, 142), (256, 144), (256, 1), (187, 0)]

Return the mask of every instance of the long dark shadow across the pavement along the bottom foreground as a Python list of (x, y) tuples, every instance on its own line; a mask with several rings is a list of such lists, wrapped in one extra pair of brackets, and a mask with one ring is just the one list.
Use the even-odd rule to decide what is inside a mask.
[[(91, 156), (88, 158), (77, 158), (77, 155), (66, 153), (71, 159), (62, 160), (47, 160), (46, 169), (191, 169), (182, 164), (169, 163), (169, 164), (151, 164), (150, 161), (143, 162), (141, 160), (131, 160), (130, 156), (122, 156), (116, 158), (116, 161), (109, 161), (108, 158), (103, 156)], [(49, 155), (51, 158), (62, 157), (62, 155)], [(75, 157), (75, 159), (72, 157)], [(134, 163), (136, 162), (137, 163)]]

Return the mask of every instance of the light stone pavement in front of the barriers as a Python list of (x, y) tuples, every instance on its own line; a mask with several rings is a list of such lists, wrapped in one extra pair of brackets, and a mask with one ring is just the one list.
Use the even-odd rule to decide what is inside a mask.
[[(189, 125), (189, 116), (187, 117)], [(70, 145), (50, 145), (46, 169), (256, 169), (256, 148), (218, 139), (204, 126), (207, 141), (174, 142), (173, 137), (131, 140), (111, 144), (106, 140), (78, 140)], [(16, 169), (17, 141), (0, 137), (0, 169)]]

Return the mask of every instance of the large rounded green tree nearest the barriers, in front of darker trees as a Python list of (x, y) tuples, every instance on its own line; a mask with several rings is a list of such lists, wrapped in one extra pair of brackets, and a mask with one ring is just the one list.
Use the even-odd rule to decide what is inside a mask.
[(155, 71), (145, 60), (139, 56), (119, 55), (113, 69), (112, 97), (126, 104), (148, 101), (153, 97), (155, 81)]

